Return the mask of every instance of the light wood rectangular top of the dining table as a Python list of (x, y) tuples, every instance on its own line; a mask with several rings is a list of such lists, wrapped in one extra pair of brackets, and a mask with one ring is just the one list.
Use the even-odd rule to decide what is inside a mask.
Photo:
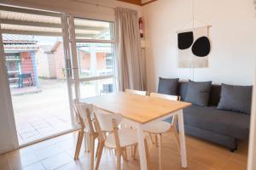
[(147, 123), (166, 116), (174, 111), (189, 107), (191, 104), (181, 101), (153, 98), (138, 94), (105, 94), (81, 99), (81, 102), (96, 105), (106, 111), (119, 113), (131, 121)]

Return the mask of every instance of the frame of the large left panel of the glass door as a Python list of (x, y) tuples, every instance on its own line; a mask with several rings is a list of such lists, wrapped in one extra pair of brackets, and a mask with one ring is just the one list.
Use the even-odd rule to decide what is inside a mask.
[[(7, 73), (7, 68), (5, 66), (5, 53), (4, 53), (4, 47), (3, 47), (3, 34), (7, 33), (7, 32), (4, 32), (2, 29), (1, 29), (1, 26), (0, 26), (0, 55), (2, 56), (1, 59), (0, 59), (0, 67), (1, 67), (1, 71), (3, 71), (3, 77), (1, 77), (1, 80), (3, 79), (3, 82), (4, 82), (4, 88), (6, 89), (3, 89), (4, 90), (4, 93), (6, 94), (6, 102), (8, 102), (8, 105), (7, 105), (7, 113), (8, 114), (8, 117), (9, 117), (9, 120), (7, 120), (9, 122), (9, 133), (12, 137), (12, 141), (11, 143), (13, 143), (13, 147), (14, 149), (18, 149), (20, 147), (24, 147), (26, 145), (30, 145), (30, 144), (34, 144), (34, 143), (38, 143), (40, 141), (44, 141), (45, 139), (50, 139), (50, 138), (54, 138), (55, 136), (59, 136), (61, 134), (64, 134), (64, 133), (69, 133), (69, 132), (72, 132), (74, 130), (77, 129), (77, 126), (75, 125), (75, 116), (74, 116), (74, 113), (73, 113), (73, 91), (72, 91), (72, 85), (73, 85), (73, 77), (72, 77), (72, 68), (71, 68), (71, 64), (70, 64), (70, 60), (71, 60), (71, 55), (69, 53), (69, 40), (67, 39), (67, 37), (69, 36), (68, 35), (68, 30), (67, 30), (67, 20), (66, 20), (66, 17), (67, 15), (66, 14), (63, 14), (63, 13), (56, 13), (56, 12), (50, 12), (50, 11), (43, 11), (43, 10), (40, 10), (40, 9), (30, 9), (30, 8), (22, 8), (22, 7), (8, 7), (8, 6), (4, 6), (4, 5), (0, 5), (0, 8), (3, 8), (3, 9), (6, 9), (6, 11), (10, 11), (12, 12), (15, 11), (15, 12), (22, 12), (22, 13), (28, 13), (28, 14), (40, 14), (40, 15), (48, 15), (49, 16), (58, 16), (61, 18), (61, 36), (62, 39), (63, 39), (63, 50), (64, 50), (64, 59), (65, 59), (65, 66), (66, 66), (66, 71), (67, 71), (67, 74), (66, 74), (66, 77), (67, 77), (67, 93), (68, 93), (68, 100), (69, 100), (69, 108), (70, 108), (70, 116), (71, 116), (71, 123), (73, 125), (73, 128), (70, 129), (70, 130), (67, 130), (67, 131), (64, 131), (64, 132), (61, 132), (61, 133), (56, 133), (56, 134), (53, 134), (53, 135), (50, 135), (49, 137), (45, 137), (43, 139), (36, 139), (32, 142), (29, 142), (29, 143), (26, 143), (26, 144), (19, 144), (19, 140), (18, 140), (18, 133), (17, 133), (17, 128), (16, 128), (16, 123), (15, 123), (15, 113), (14, 113), (14, 108), (13, 108), (13, 103), (12, 103), (12, 97), (11, 97), (11, 92), (10, 92), (10, 88), (9, 88), (9, 79), (8, 79), (8, 73)], [(21, 31), (20, 31), (21, 32)], [(10, 33), (11, 34), (11, 33)], [(16, 33), (17, 34), (17, 33)], [(22, 34), (22, 33), (20, 33)], [(38, 34), (39, 35), (39, 34)], [(43, 33), (42, 33), (43, 35)], [(52, 35), (51, 35), (52, 36)], [(1, 72), (0, 71), (0, 72)]]

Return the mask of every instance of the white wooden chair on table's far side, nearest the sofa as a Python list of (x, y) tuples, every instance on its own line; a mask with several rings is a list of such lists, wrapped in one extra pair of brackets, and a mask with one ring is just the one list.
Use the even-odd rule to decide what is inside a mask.
[[(167, 94), (156, 94), (156, 93), (151, 93), (150, 94), (151, 98), (160, 98), (160, 99), (169, 99), (172, 101), (178, 101), (180, 100), (179, 96), (174, 96), (174, 95), (167, 95)], [(152, 123), (148, 123), (146, 124), (146, 126), (144, 127), (144, 131), (149, 133), (150, 135), (150, 139), (153, 142), (152, 136), (151, 134), (155, 134), (156, 135), (156, 140), (155, 143), (159, 143), (159, 160), (160, 160), (160, 170), (162, 170), (162, 162), (161, 162), (161, 154), (162, 154), (162, 134), (172, 131), (175, 134), (175, 139), (177, 142), (177, 147), (179, 149), (179, 136), (177, 133), (177, 129), (176, 129), (176, 122), (177, 122), (177, 116), (172, 116), (172, 122), (164, 122), (164, 121), (159, 121), (159, 122), (152, 122)], [(158, 142), (157, 142), (157, 137), (158, 137)]]

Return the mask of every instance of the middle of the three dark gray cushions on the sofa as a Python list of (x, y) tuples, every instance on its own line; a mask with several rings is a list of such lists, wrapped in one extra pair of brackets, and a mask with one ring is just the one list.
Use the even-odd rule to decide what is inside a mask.
[(212, 82), (192, 82), (189, 81), (185, 101), (194, 105), (208, 105), (209, 94)]

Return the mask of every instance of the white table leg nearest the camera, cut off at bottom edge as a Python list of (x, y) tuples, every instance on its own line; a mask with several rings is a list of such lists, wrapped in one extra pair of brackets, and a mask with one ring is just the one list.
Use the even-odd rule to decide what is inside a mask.
[(137, 126), (138, 152), (140, 156), (141, 170), (147, 170), (147, 158), (144, 144), (144, 133), (142, 125)]

